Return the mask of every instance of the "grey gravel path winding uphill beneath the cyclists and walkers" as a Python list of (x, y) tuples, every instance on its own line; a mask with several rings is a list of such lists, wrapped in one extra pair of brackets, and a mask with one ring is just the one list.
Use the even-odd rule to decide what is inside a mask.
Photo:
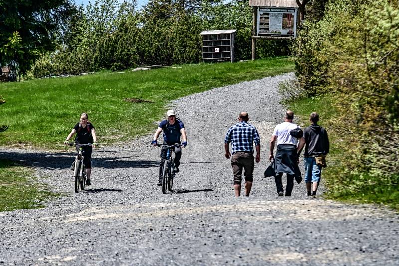
[[(93, 152), (92, 186), (73, 192), (73, 153), (0, 148), (63, 196), (0, 213), (0, 265), (398, 265), (398, 214), (305, 196), (277, 197), (262, 173), (282, 121), (277, 84), (292, 74), (215, 88), (173, 104), (188, 132), (174, 193), (156, 186), (152, 136)], [(234, 198), (223, 138), (240, 111), (261, 136), (251, 196)], [(156, 125), (154, 125), (154, 131)], [(100, 130), (98, 130), (100, 132)], [(323, 191), (321, 185), (320, 191)]]

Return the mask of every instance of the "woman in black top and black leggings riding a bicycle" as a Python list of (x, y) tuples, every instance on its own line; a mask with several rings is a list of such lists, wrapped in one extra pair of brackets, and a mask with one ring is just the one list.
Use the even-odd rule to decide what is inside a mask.
[[(66, 137), (64, 145), (69, 145), (69, 139), (76, 134), (75, 143), (76, 144), (87, 144), (92, 143), (92, 146), (95, 148), (97, 146), (97, 136), (96, 131), (94, 129), (93, 124), (88, 121), (89, 116), (87, 113), (82, 113), (80, 115), (80, 122), (73, 127), (71, 133)], [(90, 174), (91, 174), (91, 152), (92, 147), (82, 147), (83, 149), (83, 163), (86, 167), (87, 179), (86, 179), (86, 186), (90, 186)], [(79, 146), (76, 145), (76, 150), (79, 152)], [(75, 164), (72, 164), (71, 169)]]

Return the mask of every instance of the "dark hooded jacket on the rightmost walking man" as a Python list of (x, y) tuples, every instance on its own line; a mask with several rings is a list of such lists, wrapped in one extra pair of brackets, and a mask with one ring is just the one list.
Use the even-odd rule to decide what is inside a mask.
[(312, 124), (303, 131), (305, 138), (305, 157), (316, 157), (320, 154), (327, 155), (330, 151), (327, 131), (319, 125)]

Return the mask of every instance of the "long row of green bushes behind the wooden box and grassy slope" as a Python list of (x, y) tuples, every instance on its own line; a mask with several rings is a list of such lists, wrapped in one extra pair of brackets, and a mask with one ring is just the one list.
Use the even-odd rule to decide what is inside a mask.
[[(143, 10), (117, 0), (98, 0), (79, 9), (68, 24), (64, 43), (38, 60), (35, 77), (153, 64), (198, 63), (200, 32), (237, 29), (234, 59), (251, 58), (252, 9), (246, 2), (202, 1), (196, 8), (181, 2), (150, 0)], [(105, 14), (107, 14), (105, 16)], [(290, 41), (259, 40), (257, 57), (289, 55)]]

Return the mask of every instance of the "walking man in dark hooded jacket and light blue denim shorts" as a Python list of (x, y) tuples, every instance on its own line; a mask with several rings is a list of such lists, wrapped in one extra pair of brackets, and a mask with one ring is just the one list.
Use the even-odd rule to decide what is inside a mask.
[[(325, 156), (330, 151), (330, 142), (327, 131), (317, 125), (319, 114), (313, 112), (310, 114), (309, 127), (303, 131), (303, 137), (299, 140), (298, 154), (301, 153), (305, 145), (304, 163), (305, 163), (305, 183), (308, 196), (316, 197), (316, 191), (320, 183), (322, 166), (317, 163), (317, 159), (325, 160)], [(312, 187), (313, 183), (313, 187)], [(311, 192), (312, 189), (312, 192)]]

